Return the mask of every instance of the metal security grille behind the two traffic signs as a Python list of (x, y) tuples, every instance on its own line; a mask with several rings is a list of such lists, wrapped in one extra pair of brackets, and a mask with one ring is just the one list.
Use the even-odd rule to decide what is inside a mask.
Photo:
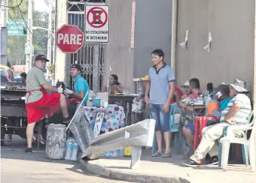
[[(86, 4), (87, 1), (68, 1), (68, 23), (69, 25), (78, 26), (81, 31), (84, 31), (85, 26), (84, 6)], [(84, 43), (84, 46), (78, 52), (68, 56), (68, 67), (75, 63), (80, 64), (83, 68), (82, 76), (87, 80), (93, 92), (102, 90), (104, 52), (105, 44), (103, 43)], [(70, 80), (70, 84), (72, 85), (72, 80)]]

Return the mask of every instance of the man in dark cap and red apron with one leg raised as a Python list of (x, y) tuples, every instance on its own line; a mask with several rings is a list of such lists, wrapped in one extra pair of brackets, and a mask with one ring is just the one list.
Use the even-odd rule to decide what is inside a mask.
[[(44, 77), (43, 69), (49, 60), (45, 55), (37, 55), (35, 57), (35, 65), (29, 71), (26, 77), (26, 113), (28, 125), (26, 127), (26, 139), (28, 147), (26, 152), (32, 152), (32, 139), (35, 123), (50, 113), (51, 109), (60, 107), (64, 117), (64, 121), (69, 121), (69, 113), (67, 110), (66, 98), (62, 95), (63, 89), (53, 88), (47, 84)], [(47, 94), (47, 92), (55, 92)]]

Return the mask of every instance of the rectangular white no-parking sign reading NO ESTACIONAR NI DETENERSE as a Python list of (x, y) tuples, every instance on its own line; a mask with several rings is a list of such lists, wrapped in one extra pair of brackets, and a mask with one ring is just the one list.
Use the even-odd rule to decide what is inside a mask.
[(87, 5), (85, 7), (85, 42), (109, 42), (108, 13), (108, 5)]

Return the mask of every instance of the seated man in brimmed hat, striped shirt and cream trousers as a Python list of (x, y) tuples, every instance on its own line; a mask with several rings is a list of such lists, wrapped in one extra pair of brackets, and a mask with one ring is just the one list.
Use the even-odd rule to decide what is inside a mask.
[[(201, 160), (207, 153), (212, 155), (214, 163), (218, 163), (217, 139), (223, 136), (224, 127), (248, 123), (246, 118), (251, 113), (251, 101), (242, 92), (248, 92), (245, 89), (244, 81), (236, 79), (233, 84), (230, 84), (230, 97), (233, 98), (222, 111), (220, 123), (203, 128), (203, 136), (197, 150), (194, 151), (194, 154), (188, 160), (182, 162), (184, 165), (200, 166)], [(242, 131), (236, 131), (235, 135), (242, 137)]]

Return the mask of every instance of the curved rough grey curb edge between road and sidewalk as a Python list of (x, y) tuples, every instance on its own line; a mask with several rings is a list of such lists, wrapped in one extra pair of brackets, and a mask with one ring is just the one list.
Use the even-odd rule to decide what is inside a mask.
[(117, 170), (108, 169), (105, 166), (100, 166), (96, 164), (91, 164), (90, 160), (82, 160), (79, 159), (81, 165), (88, 172), (101, 175), (106, 178), (116, 179), (120, 181), (131, 181), (131, 182), (145, 182), (145, 183), (190, 183), (185, 178), (181, 177), (161, 177), (161, 176), (153, 176), (153, 175), (142, 175), (137, 173), (126, 173), (120, 172)]

